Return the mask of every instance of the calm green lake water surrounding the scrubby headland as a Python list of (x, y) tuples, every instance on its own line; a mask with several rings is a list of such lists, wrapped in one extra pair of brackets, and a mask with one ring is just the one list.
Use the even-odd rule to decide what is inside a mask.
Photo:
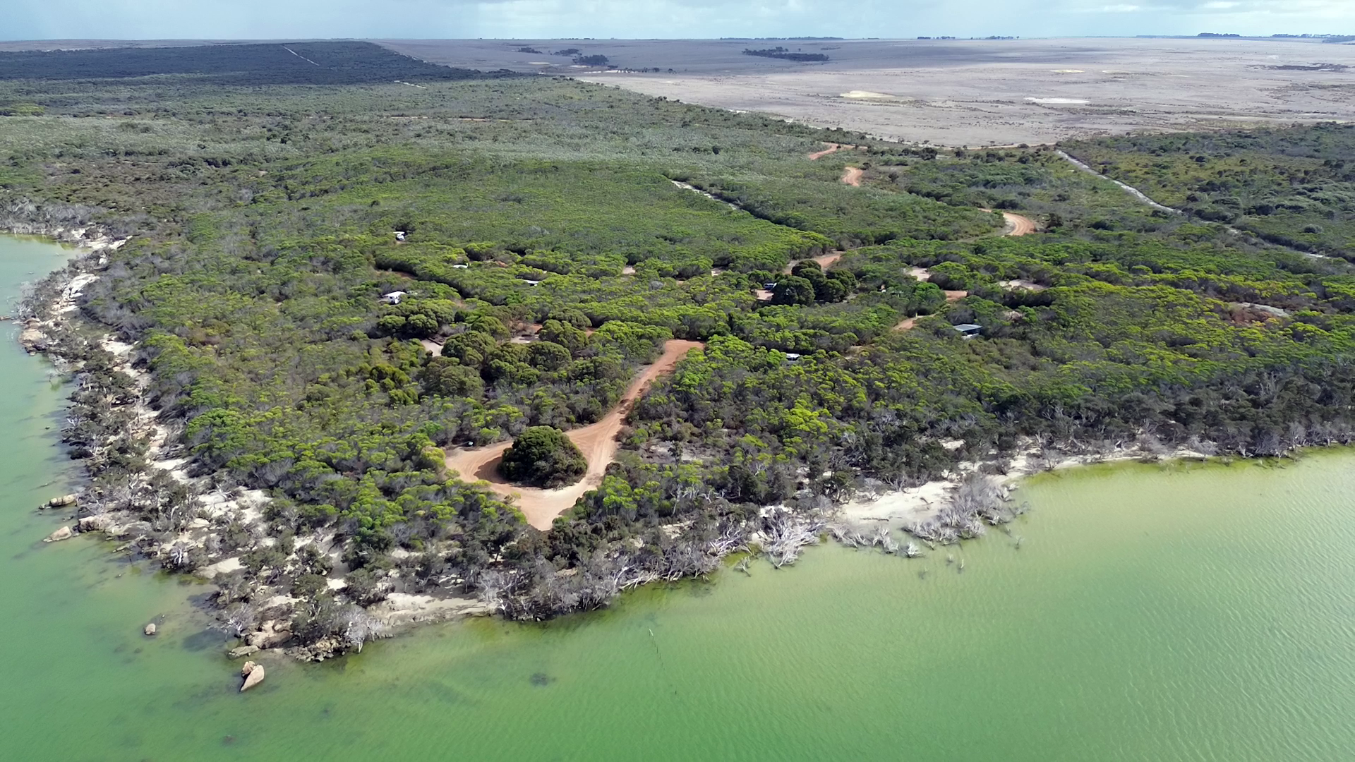
[[(0, 239), (0, 290), (60, 262)], [(541, 626), (237, 663), (206, 588), (35, 513), (64, 390), (0, 346), (0, 759), (1350, 759), (1355, 454), (1091, 468), (1012, 536), (642, 590)], [(1016, 538), (1020, 538), (1019, 546)], [(160, 635), (141, 628), (164, 614)], [(534, 681), (534, 675), (546, 679)], [(537, 685), (545, 682), (545, 685)]]

